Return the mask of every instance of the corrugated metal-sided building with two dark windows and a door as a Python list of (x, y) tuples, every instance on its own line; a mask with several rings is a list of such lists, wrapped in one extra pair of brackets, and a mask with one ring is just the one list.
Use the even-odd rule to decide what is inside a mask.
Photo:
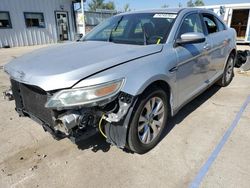
[(74, 40), (77, 0), (0, 0), (0, 48)]

